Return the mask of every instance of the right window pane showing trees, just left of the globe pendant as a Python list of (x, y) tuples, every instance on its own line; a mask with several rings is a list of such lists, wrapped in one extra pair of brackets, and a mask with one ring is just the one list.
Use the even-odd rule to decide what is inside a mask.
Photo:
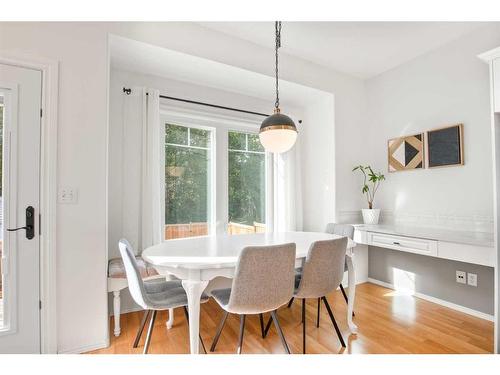
[[(241, 139), (242, 134), (229, 132), (229, 147), (231, 147), (231, 139)], [(265, 153), (231, 150), (228, 152), (228, 232), (231, 234), (264, 232), (266, 219)]]

